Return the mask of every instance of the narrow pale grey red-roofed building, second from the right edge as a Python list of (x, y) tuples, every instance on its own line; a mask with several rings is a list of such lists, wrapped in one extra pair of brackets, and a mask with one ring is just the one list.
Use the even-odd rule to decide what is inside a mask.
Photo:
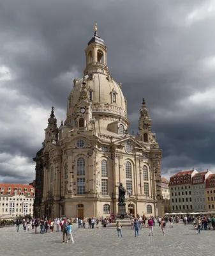
[(206, 211), (205, 180), (211, 174), (212, 172), (207, 170), (193, 175), (191, 197), (194, 212)]

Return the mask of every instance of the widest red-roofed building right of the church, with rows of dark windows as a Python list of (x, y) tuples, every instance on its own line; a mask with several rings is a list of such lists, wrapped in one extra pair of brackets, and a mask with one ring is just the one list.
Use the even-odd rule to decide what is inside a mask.
[(198, 173), (195, 169), (178, 172), (170, 177), (171, 212), (193, 212), (192, 178)]

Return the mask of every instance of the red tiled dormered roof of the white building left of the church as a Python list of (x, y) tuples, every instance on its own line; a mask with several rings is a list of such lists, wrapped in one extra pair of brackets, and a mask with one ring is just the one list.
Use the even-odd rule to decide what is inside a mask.
[[(1, 189), (1, 188), (4, 188)], [(10, 188), (10, 190), (8, 189)], [(15, 190), (17, 188), (17, 190)], [(21, 191), (19, 190), (21, 188)], [(24, 189), (27, 188), (27, 191)], [(33, 192), (31, 191), (33, 189)], [(3, 191), (3, 194), (1, 195), (7, 195), (7, 192), (10, 191), (10, 195), (14, 195), (14, 192), (17, 192), (17, 195), (21, 195), (22, 192), (24, 192), (24, 195), (26, 196), (27, 193), (30, 193), (29, 196), (33, 196), (35, 193), (35, 189), (31, 185), (24, 185), (24, 184), (10, 184), (10, 183), (0, 183), (0, 191)]]

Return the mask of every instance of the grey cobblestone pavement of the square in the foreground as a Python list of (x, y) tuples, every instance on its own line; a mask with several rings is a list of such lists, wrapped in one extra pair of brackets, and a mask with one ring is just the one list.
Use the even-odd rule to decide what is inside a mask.
[[(55, 227), (56, 228), (56, 227)], [(34, 234), (34, 231), (16, 232), (15, 227), (0, 228), (0, 255), (147, 255), (147, 256), (207, 256), (214, 255), (215, 230), (202, 230), (198, 235), (193, 225), (166, 227), (166, 236), (156, 223), (154, 236), (148, 228), (140, 230), (140, 237), (134, 231), (122, 227), (122, 235), (112, 228), (73, 228), (75, 243), (63, 243), (62, 233)], [(78, 254), (77, 254), (78, 253)]]

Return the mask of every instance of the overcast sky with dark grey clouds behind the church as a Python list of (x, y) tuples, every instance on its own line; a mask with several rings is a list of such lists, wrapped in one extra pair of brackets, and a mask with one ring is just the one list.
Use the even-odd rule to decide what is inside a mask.
[(60, 125), (94, 23), (130, 131), (145, 97), (162, 175), (215, 172), (215, 1), (0, 0), (0, 181), (34, 179), (50, 109)]

